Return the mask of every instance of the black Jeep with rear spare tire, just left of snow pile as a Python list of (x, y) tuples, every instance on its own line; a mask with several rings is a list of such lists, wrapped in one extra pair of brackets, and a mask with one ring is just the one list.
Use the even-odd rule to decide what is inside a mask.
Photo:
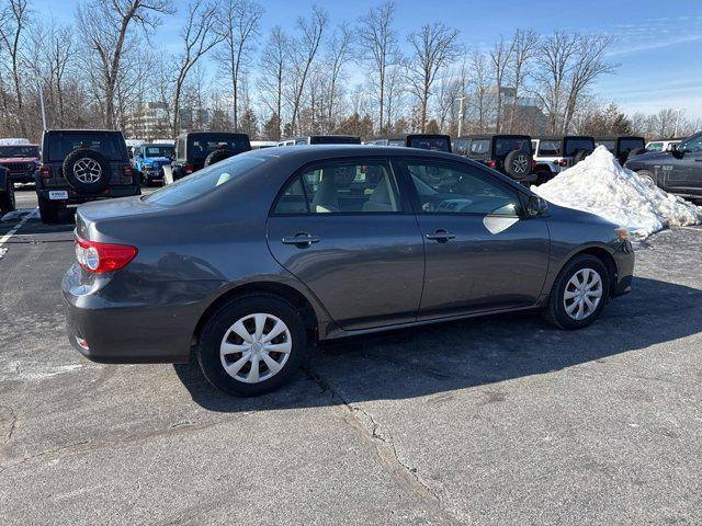
[(458, 137), (455, 152), (509, 175), (522, 184), (536, 182), (529, 135), (485, 134)]

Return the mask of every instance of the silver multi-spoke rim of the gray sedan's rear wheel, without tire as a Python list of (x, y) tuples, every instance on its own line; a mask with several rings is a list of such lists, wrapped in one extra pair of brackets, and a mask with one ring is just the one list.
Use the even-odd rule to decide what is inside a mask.
[(292, 348), (293, 338), (285, 322), (257, 312), (240, 318), (225, 332), (219, 358), (235, 380), (259, 384), (283, 369)]

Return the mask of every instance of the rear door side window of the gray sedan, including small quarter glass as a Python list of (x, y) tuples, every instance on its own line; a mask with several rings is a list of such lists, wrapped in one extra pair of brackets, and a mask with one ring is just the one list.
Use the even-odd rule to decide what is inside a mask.
[(387, 161), (328, 161), (314, 164), (281, 193), (274, 214), (364, 214), (400, 211)]

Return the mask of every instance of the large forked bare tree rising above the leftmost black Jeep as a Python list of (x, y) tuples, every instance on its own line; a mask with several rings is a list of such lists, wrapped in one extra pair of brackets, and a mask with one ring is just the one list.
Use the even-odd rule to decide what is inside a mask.
[[(83, 38), (97, 54), (89, 67), (100, 72), (100, 91), (104, 98), (104, 125), (115, 125), (115, 96), (125, 46), (133, 27), (156, 28), (159, 14), (172, 12), (170, 0), (91, 0), (77, 11)], [(97, 77), (97, 75), (95, 75)]]

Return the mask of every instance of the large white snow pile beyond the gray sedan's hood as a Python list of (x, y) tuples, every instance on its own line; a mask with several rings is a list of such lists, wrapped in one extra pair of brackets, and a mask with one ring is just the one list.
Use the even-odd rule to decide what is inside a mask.
[(590, 211), (644, 239), (667, 227), (702, 224), (702, 208), (623, 168), (603, 146), (531, 188), (556, 205)]

